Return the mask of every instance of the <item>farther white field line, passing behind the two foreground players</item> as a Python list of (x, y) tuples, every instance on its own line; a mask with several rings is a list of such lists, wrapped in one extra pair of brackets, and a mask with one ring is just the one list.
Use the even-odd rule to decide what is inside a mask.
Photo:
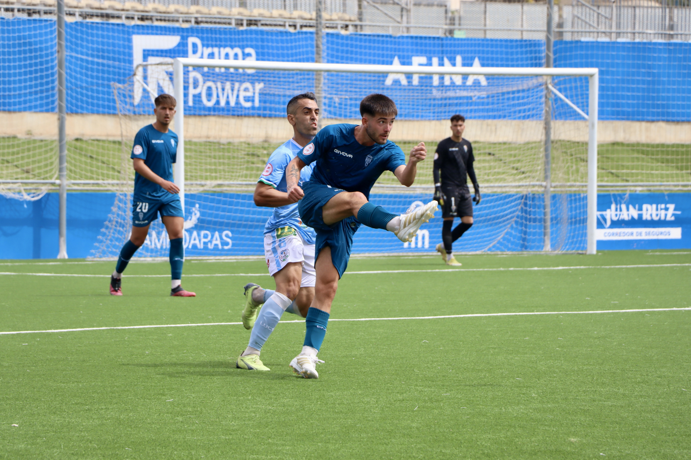
[[(659, 263), (651, 265), (609, 265), (609, 266), (575, 266), (575, 267), (531, 267), (531, 268), (449, 268), (444, 270), (372, 270), (367, 272), (345, 272), (345, 274), (379, 274), (379, 273), (424, 273), (424, 272), (524, 272), (541, 270), (583, 270), (586, 268), (656, 268), (656, 267), (691, 267), (691, 263)], [(34, 277), (91, 277), (108, 278), (109, 274), (70, 274), (70, 273), (20, 273), (0, 272), (3, 274), (24, 274)], [(268, 277), (268, 273), (209, 273), (186, 274), (184, 277)], [(169, 274), (124, 274), (126, 278), (167, 278)]]

